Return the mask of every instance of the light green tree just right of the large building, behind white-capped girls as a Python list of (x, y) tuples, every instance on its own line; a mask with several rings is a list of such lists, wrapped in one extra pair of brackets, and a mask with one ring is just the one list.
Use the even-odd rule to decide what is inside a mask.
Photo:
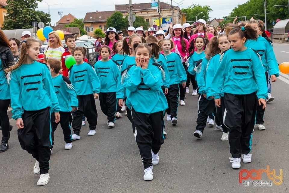
[[(203, 13), (201, 13), (203, 11)], [(204, 19), (205, 21), (209, 20), (209, 13), (213, 11), (210, 6), (205, 5), (205, 6), (200, 6), (198, 4), (192, 4), (188, 8), (183, 8), (182, 12), (186, 14), (186, 21), (192, 23), (193, 21), (196, 21), (196, 15), (197, 19)]]

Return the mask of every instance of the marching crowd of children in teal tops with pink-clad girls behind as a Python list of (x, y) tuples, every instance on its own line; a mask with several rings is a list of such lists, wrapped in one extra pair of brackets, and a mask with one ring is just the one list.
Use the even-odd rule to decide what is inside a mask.
[[(178, 106), (185, 105), (190, 82), (192, 95), (198, 94), (194, 136), (202, 138), (206, 122), (212, 125), (215, 118), (216, 128), (222, 131), (221, 140), (229, 141), (232, 168), (240, 168), (241, 159), (251, 162), (255, 121), (259, 130), (265, 130), (267, 77), (274, 82), (279, 75), (272, 45), (259, 35), (260, 22), (256, 20), (228, 25), (218, 33), (215, 28), (208, 30), (202, 19), (194, 25), (196, 30), (190, 24), (171, 25), (168, 35), (154, 27), (147, 33), (142, 27), (129, 27), (128, 36), (121, 39), (122, 33), (109, 27), (95, 64), (85, 61), (86, 50), (75, 47), (73, 36), (65, 38), (68, 48), (61, 51), (57, 34), (49, 34), (51, 46), (45, 49), (44, 59), (47, 65), (35, 62), (39, 55), (37, 40), (22, 41), (19, 60), (2, 65), (2, 74), (7, 74), (10, 84), (20, 145), (36, 159), (33, 172), (40, 174), (37, 185), (45, 185), (50, 179), (53, 133), (59, 123), (65, 150), (73, 147), (73, 140), (80, 139), (83, 115), (89, 123), (87, 135), (95, 135), (95, 99), (99, 99), (109, 128), (115, 127), (116, 118), (121, 118), (126, 109), (144, 166), (143, 179), (152, 180), (167, 135), (165, 113), (165, 120), (177, 125)], [(76, 63), (68, 69), (65, 61), (71, 56)], [(2, 123), (6, 138), (8, 125)], [(7, 150), (8, 139), (4, 142), (2, 137), (0, 149)]]

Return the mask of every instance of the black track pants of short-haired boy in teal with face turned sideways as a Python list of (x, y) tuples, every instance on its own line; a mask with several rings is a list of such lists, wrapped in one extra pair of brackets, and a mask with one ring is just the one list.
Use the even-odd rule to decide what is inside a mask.
[(70, 129), (70, 117), (71, 117), (71, 113), (70, 112), (59, 112), (60, 114), (60, 122), (55, 123), (55, 116), (54, 113), (52, 113), (51, 115), (51, 119), (52, 119), (52, 133), (51, 133), (51, 138), (52, 138), (52, 145), (50, 147), (50, 149), (53, 148), (54, 145), (54, 131), (56, 130), (58, 124), (60, 123), (60, 126), (63, 130), (63, 135), (64, 135), (64, 141), (66, 144), (71, 143), (72, 142), (72, 136), (71, 136), (71, 129)]

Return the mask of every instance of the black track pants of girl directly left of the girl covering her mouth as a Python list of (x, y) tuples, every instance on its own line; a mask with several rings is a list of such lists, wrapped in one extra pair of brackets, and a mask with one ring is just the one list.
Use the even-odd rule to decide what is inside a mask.
[(116, 92), (99, 93), (99, 103), (101, 111), (107, 116), (108, 122), (115, 121), (115, 113), (117, 111), (117, 96)]

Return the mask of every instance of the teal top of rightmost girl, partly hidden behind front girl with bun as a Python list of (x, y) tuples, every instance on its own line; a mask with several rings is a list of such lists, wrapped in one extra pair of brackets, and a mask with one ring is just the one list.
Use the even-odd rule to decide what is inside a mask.
[(271, 43), (260, 36), (257, 40), (247, 40), (245, 46), (256, 50), (261, 56), (264, 71), (279, 76), (279, 67)]

